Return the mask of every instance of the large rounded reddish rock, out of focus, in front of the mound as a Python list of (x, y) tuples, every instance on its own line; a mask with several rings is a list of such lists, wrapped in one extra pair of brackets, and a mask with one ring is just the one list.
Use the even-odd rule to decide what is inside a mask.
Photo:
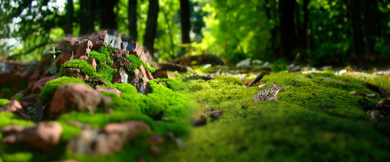
[(59, 87), (54, 93), (49, 109), (49, 118), (57, 119), (59, 115), (72, 110), (95, 112), (98, 106), (108, 105), (110, 97), (83, 84), (69, 84)]

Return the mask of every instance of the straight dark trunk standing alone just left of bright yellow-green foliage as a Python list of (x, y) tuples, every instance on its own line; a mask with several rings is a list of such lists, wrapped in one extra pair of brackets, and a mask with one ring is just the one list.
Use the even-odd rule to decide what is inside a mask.
[(190, 40), (190, 4), (188, 0), (180, 0), (181, 43), (191, 43)]

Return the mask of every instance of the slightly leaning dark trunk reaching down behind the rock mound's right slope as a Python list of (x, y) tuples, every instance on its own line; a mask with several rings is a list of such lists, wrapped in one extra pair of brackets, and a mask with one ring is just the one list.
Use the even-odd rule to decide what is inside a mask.
[(158, 0), (149, 0), (148, 19), (146, 20), (146, 29), (143, 39), (143, 45), (149, 53), (154, 55), (154, 44), (157, 29)]

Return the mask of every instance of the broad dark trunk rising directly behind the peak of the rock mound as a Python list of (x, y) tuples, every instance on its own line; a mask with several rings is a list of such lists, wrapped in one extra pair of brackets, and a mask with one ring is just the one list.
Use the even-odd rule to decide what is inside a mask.
[(117, 5), (118, 0), (100, 0), (98, 11), (100, 15), (100, 28), (101, 29), (117, 29), (117, 15), (114, 12), (114, 7)]

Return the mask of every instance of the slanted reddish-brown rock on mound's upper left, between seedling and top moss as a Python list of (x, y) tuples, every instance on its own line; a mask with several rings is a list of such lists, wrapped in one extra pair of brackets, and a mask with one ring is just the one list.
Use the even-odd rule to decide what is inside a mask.
[(61, 59), (61, 65), (72, 57), (73, 59), (82, 59), (82, 60), (88, 60), (89, 53), (91, 52), (93, 47), (93, 43), (91, 40), (84, 41), (76, 46), (73, 46), (72, 49), (68, 50), (64, 53), (62, 59)]

